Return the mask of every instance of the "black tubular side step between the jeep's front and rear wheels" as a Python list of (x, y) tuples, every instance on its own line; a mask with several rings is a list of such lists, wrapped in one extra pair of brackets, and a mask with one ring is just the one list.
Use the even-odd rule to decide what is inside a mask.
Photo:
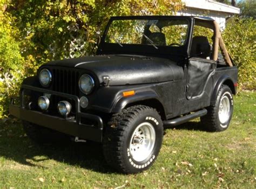
[(202, 110), (199, 110), (199, 111), (197, 111), (193, 114), (178, 117), (178, 118), (175, 118), (173, 120), (166, 120), (166, 121), (163, 122), (164, 127), (172, 127), (172, 126), (175, 126), (175, 125), (179, 125), (179, 124), (185, 123), (187, 121), (193, 120), (194, 118), (204, 116), (206, 114), (207, 114), (207, 110), (202, 109)]

